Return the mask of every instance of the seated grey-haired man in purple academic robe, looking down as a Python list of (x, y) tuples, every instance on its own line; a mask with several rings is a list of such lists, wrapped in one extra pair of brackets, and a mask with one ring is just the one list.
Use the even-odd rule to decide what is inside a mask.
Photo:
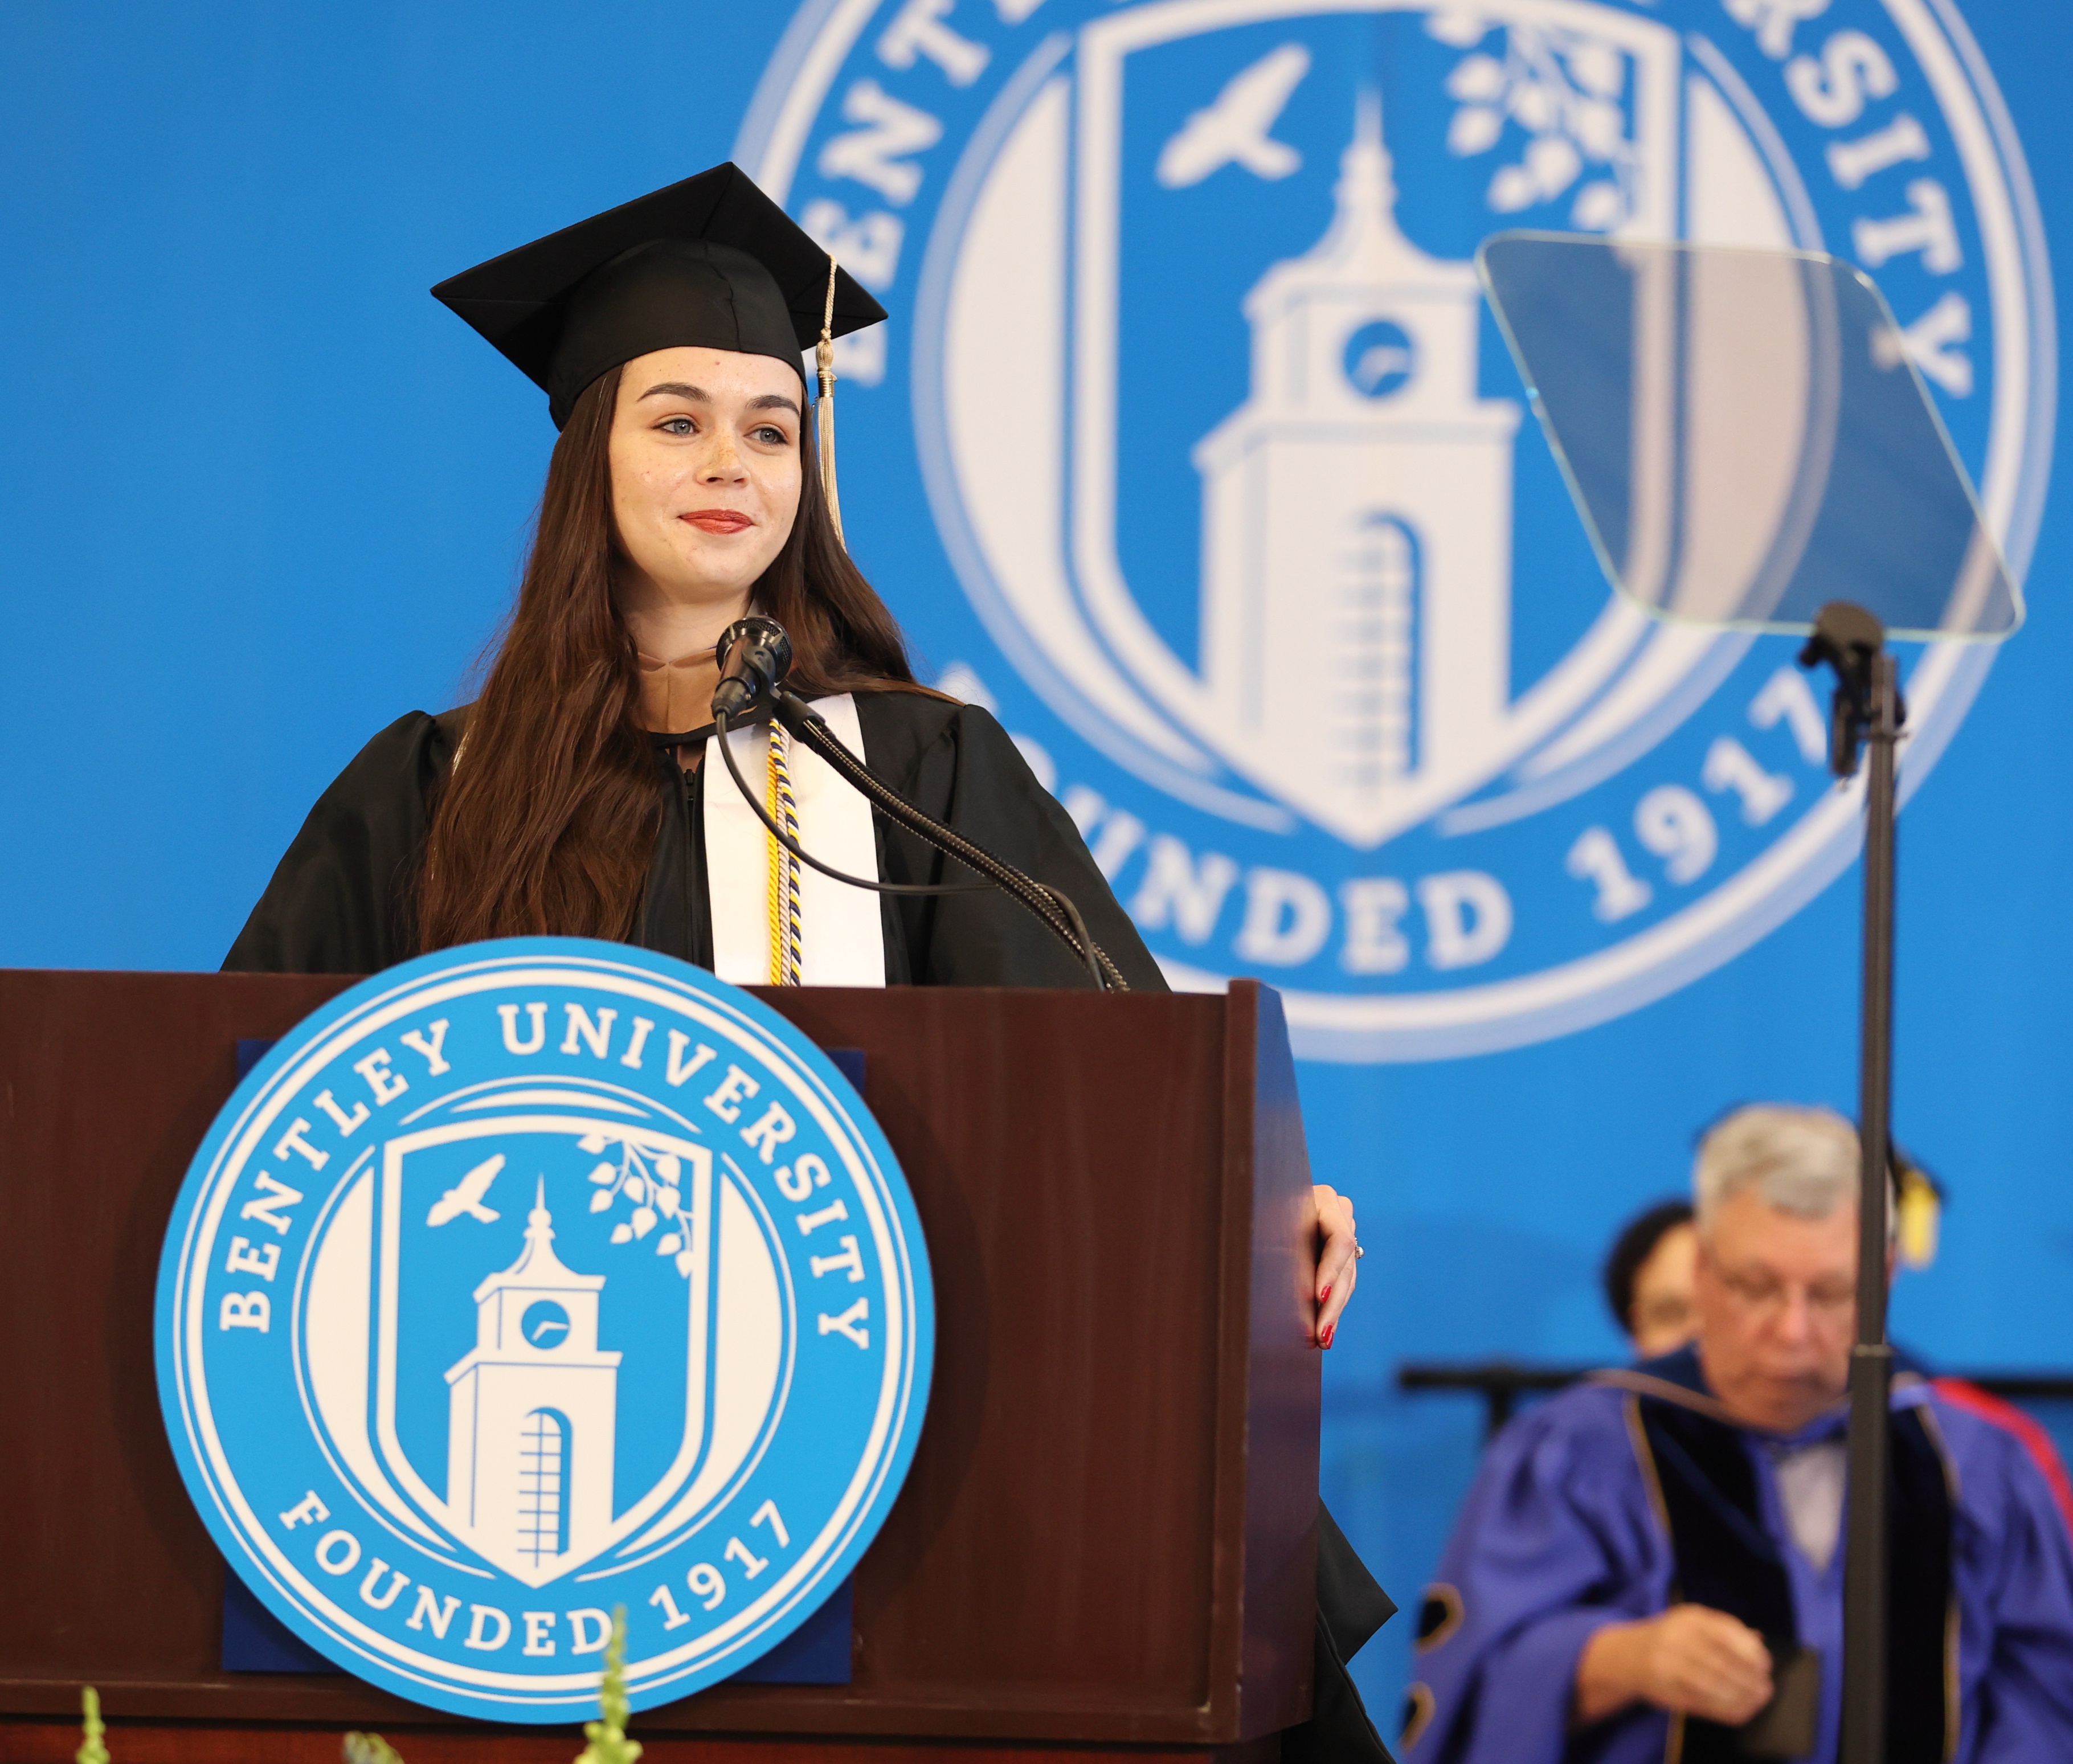
[[(1741, 1109), (1694, 1200), (1696, 1341), (1490, 1445), (1420, 1613), (1405, 1764), (1837, 1756), (1857, 1136)], [(2036, 1461), (1903, 1374), (1889, 1499), (1886, 1756), (2073, 1758), (2073, 1540)]]

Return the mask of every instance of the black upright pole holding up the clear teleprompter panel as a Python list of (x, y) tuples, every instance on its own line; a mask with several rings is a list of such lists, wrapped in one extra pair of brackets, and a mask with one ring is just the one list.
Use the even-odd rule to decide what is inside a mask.
[[(1886, 1192), (1893, 1103), (1893, 761), (1901, 734), (1899, 670), (1884, 647), (1864, 657), (1864, 1003), (1859, 1020), (1857, 1343), (1849, 1362), (1849, 1538), (1843, 1557), (1841, 1764), (1886, 1764), (1886, 1459), (1893, 1347), (1886, 1343)], [(1841, 674), (1843, 670), (1839, 670)], [(1849, 682), (1837, 692), (1849, 690)]]

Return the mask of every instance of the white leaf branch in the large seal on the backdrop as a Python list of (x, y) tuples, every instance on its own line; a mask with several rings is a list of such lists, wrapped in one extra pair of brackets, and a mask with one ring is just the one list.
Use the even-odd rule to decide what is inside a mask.
[[(1488, 153), (1515, 122), (1530, 137), (1515, 164), (1490, 176), (1488, 203), (1520, 214), (1575, 187), (1569, 220), (1586, 232), (1611, 232), (1634, 216), (1640, 162), (1627, 139), (1623, 93), (1627, 58), (1580, 31), (1503, 27), (1503, 52), (1482, 48), (1495, 29), (1482, 15), (1447, 8), (1426, 27), (1468, 54), (1447, 75), (1459, 106), (1447, 126), (1457, 158)], [(1586, 170), (1602, 168), (1586, 182)]]

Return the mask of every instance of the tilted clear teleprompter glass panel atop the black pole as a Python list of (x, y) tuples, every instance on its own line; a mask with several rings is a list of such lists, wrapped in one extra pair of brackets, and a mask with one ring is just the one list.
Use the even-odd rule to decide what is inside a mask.
[(1505, 232), (1490, 307), (1607, 576), (1656, 618), (2003, 638), (2021, 591), (1878, 288), (1812, 251)]

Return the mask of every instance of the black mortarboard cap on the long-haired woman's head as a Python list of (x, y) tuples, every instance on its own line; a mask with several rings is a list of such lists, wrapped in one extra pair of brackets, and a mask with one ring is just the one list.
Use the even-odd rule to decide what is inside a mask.
[[(578, 220), (473, 269), (433, 296), (547, 394), (560, 429), (576, 396), (657, 348), (771, 354), (804, 379), (800, 354), (827, 313), (827, 253), (740, 166)], [(831, 336), (885, 309), (835, 272)]]

